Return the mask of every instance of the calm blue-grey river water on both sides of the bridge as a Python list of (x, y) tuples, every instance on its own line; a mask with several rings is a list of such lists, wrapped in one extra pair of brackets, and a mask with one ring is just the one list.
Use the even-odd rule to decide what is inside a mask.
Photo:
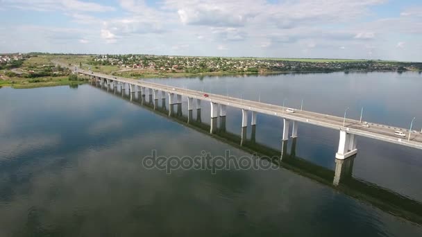
[[(364, 107), (365, 121), (408, 128), (416, 116), (414, 128), (422, 127), (418, 73), (153, 81), (277, 105), (284, 100), (296, 108), (303, 100), (304, 109), (338, 116), (350, 107), (347, 116), (354, 119)], [(142, 158), (151, 150), (180, 157), (230, 150), (251, 157), (230, 142), (238, 137), (212, 137), (140, 105), (148, 100), (136, 94), (130, 102), (126, 91), (95, 85), (1, 88), (0, 236), (422, 236), (420, 224), (374, 204), (374, 198), (357, 198), (359, 188), (344, 191), (312, 178), (319, 168), (231, 169), (215, 175), (146, 169)], [(210, 106), (202, 107), (206, 127)], [(188, 114), (186, 98), (182, 114)], [(228, 108), (226, 130), (240, 137), (240, 127), (241, 112)], [(282, 121), (258, 115), (255, 140), (267, 150), (281, 149), (281, 131)], [(248, 139), (251, 133), (248, 128)], [(300, 124), (297, 159), (335, 170), (338, 137), (338, 131)], [(375, 200), (381, 189), (363, 182), (419, 207), (421, 150), (361, 137), (357, 148), (353, 180), (375, 193)]]

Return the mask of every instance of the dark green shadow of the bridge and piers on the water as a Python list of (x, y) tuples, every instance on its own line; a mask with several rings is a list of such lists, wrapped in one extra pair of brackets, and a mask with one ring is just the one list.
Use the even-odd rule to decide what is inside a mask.
[[(346, 195), (362, 200), (366, 203), (378, 207), (382, 211), (399, 216), (406, 220), (422, 225), (422, 203), (407, 198), (399, 193), (382, 188), (376, 184), (366, 182), (362, 179), (353, 177), (353, 161), (355, 157), (345, 160), (335, 159), (335, 170), (330, 170), (323, 166), (312, 164), (301, 157), (296, 156), (297, 139), (292, 139), (290, 147), (287, 141), (282, 141), (280, 150), (270, 148), (263, 144), (255, 142), (256, 126), (252, 126), (251, 139), (246, 139), (246, 128), (243, 128), (239, 134), (233, 134), (226, 131), (226, 118), (211, 119), (210, 125), (202, 123), (201, 109), (194, 109), (196, 119), (193, 119), (194, 111), (190, 110), (187, 115), (182, 113), (182, 105), (167, 105), (166, 100), (153, 100), (152, 95), (141, 96), (137, 93), (130, 93), (128, 90), (118, 90), (117, 87), (107, 87), (99, 85), (98, 82), (91, 84), (93, 87), (107, 91), (109, 94), (127, 100), (130, 103), (139, 105), (144, 109), (164, 116), (171, 121), (176, 121), (181, 125), (192, 128), (203, 134), (228, 143), (230, 146), (244, 150), (245, 152), (267, 159), (271, 163), (291, 170), (298, 175), (308, 177), (316, 182), (330, 186)], [(217, 125), (217, 123), (219, 123)], [(290, 148), (290, 149), (289, 149)], [(288, 152), (288, 150), (290, 150)]]

